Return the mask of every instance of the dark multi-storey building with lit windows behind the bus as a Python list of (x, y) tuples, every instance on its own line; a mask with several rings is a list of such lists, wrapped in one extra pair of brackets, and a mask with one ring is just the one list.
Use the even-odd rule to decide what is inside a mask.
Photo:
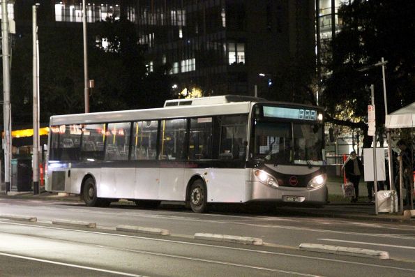
[[(315, 1), (300, 2), (89, 0), (86, 16), (87, 22), (109, 16), (135, 22), (149, 68), (169, 66), (178, 91), (253, 95), (254, 85), (261, 90), (259, 73), (275, 75), (299, 53), (315, 59)], [(55, 22), (82, 22), (82, 0), (55, 0), (51, 8)]]

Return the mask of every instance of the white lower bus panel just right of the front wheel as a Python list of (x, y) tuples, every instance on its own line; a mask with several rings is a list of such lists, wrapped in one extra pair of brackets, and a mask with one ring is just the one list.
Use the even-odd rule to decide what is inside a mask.
[(206, 170), (208, 202), (243, 203), (247, 199), (244, 168), (215, 168)]

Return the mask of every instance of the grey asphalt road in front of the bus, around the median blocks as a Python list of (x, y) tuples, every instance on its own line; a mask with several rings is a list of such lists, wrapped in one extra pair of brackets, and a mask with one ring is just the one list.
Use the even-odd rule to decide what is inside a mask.
[[(415, 274), (415, 226), (311, 218), (287, 213), (145, 210), (73, 202), (0, 200), (0, 276), (409, 276)], [(51, 224), (56, 219), (96, 228)], [(115, 230), (158, 227), (170, 236)], [(257, 237), (262, 246), (194, 239), (197, 232)], [(330, 244), (388, 251), (391, 260), (305, 252), (299, 244)], [(347, 270), (345, 270), (347, 268)]]

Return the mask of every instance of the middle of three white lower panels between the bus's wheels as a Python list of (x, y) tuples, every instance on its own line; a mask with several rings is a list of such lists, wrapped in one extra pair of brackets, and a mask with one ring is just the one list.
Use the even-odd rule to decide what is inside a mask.
[(160, 187), (160, 169), (149, 167), (135, 168), (135, 199), (158, 200)]

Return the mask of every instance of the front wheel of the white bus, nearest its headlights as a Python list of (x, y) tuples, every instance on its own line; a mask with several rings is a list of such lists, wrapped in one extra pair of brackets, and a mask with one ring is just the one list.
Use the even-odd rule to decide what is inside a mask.
[(186, 203), (197, 214), (202, 214), (207, 209), (207, 188), (204, 179), (198, 175), (193, 176), (186, 193)]

